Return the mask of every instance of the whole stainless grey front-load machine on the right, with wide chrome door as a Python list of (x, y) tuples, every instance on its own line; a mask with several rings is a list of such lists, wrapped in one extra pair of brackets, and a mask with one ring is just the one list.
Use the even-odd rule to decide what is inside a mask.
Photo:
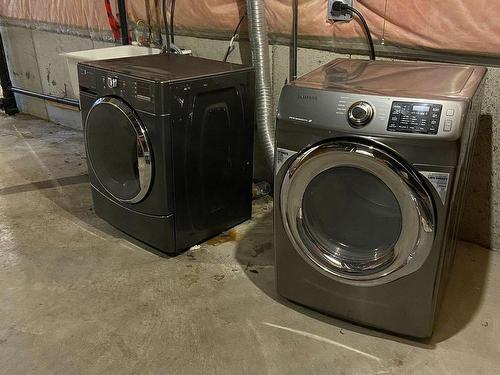
[(337, 59), (278, 108), (278, 292), (428, 337), (453, 259), (486, 69)]

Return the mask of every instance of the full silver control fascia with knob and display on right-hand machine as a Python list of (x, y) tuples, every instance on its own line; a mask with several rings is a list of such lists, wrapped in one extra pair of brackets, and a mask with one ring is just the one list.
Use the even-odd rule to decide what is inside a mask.
[(460, 138), (469, 102), (368, 95), (287, 85), (277, 117), (345, 134), (408, 139)]

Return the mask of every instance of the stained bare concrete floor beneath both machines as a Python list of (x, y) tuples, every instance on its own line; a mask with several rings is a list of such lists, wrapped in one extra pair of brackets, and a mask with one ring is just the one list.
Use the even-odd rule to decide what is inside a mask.
[(434, 338), (413, 342), (274, 290), (269, 199), (176, 258), (92, 211), (81, 132), (0, 117), (0, 372), (500, 374), (500, 254), (461, 243)]

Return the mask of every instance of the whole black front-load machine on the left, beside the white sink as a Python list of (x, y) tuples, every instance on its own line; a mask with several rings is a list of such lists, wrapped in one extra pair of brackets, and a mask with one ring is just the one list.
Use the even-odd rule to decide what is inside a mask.
[(78, 76), (98, 216), (167, 253), (250, 218), (252, 68), (161, 54)]

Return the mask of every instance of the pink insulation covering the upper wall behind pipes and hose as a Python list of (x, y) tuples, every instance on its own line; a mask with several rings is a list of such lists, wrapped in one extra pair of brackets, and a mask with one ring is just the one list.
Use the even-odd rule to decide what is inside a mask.
[[(292, 1), (264, 1), (270, 33), (288, 36)], [(116, 1), (111, 3), (116, 13)], [(327, 0), (299, 3), (300, 35), (309, 44), (334, 46), (336, 41), (364, 39), (358, 22), (332, 25), (325, 21)], [(358, 0), (355, 6), (365, 15), (376, 44), (383, 38), (385, 44), (400, 47), (500, 55), (499, 1)], [(159, 0), (127, 0), (127, 7), (131, 29), (139, 19), (153, 26), (161, 19)], [(245, 9), (244, 0), (178, 0), (176, 27), (195, 34), (229, 33)], [(62, 32), (71, 28), (110, 31), (104, 0), (1, 0), (0, 16), (35, 26), (51, 24)]]

